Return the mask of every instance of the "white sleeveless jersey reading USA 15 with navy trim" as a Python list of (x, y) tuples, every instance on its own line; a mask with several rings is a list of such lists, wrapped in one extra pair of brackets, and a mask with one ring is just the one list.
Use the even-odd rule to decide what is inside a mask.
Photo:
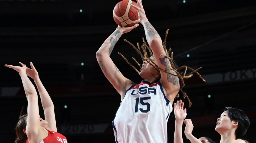
[(166, 143), (169, 103), (160, 81), (131, 86), (112, 121), (116, 143)]

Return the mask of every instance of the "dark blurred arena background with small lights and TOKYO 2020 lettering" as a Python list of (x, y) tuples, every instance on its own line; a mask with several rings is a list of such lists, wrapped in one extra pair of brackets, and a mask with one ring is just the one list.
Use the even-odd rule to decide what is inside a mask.
[[(52, 97), (58, 132), (69, 143), (114, 143), (111, 121), (120, 96), (102, 74), (95, 54), (115, 30), (113, 8), (118, 0), (0, 0), (0, 130), (1, 142), (14, 142), (14, 127), (27, 99), (16, 71), (5, 64), (33, 62)], [(219, 142), (214, 130), (226, 106), (246, 112), (251, 125), (247, 140), (256, 141), (256, 1), (144, 0), (151, 24), (173, 50), (177, 63), (199, 77), (185, 81), (192, 101), (187, 118), (193, 134)], [(139, 59), (123, 41), (142, 43), (142, 25), (124, 34), (111, 54), (124, 76), (142, 79), (117, 52)], [(141, 61), (142, 62), (142, 61)], [(132, 62), (133, 63), (133, 62)], [(134, 64), (134, 63), (133, 63)], [(176, 101), (176, 100), (175, 100)], [(185, 99), (185, 104), (188, 105)], [(40, 101), (39, 101), (40, 102)], [(43, 117), (42, 107), (40, 115)], [(173, 142), (175, 117), (168, 121)], [(184, 126), (185, 127), (185, 126)], [(189, 142), (183, 134), (184, 142)]]

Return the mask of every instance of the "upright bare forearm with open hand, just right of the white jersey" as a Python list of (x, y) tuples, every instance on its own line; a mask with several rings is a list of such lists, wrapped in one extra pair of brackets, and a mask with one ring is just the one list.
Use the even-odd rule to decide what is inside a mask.
[(182, 124), (183, 120), (187, 116), (187, 110), (186, 108), (183, 109), (184, 107), (184, 102), (180, 100), (177, 101), (177, 103), (173, 104), (173, 109), (174, 109), (174, 115), (175, 115), (175, 130), (174, 130), (174, 138), (173, 142), (174, 143), (183, 143), (182, 139)]

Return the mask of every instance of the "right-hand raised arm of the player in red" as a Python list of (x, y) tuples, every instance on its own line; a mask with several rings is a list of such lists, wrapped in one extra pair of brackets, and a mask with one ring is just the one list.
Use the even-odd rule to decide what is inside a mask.
[[(20, 64), (21, 66), (23, 66), (23, 63), (20, 63)], [(30, 62), (30, 66), (31, 66), (31, 69), (27, 67), (26, 74), (29, 77), (31, 77), (36, 83), (36, 86), (41, 98), (42, 107), (44, 109), (45, 121), (48, 122), (47, 129), (57, 132), (54, 105), (53, 105), (52, 99), (48, 94), (48, 92), (46, 91), (45, 87), (43, 86), (39, 78), (39, 74), (36, 71), (36, 68), (34, 67), (32, 62)]]

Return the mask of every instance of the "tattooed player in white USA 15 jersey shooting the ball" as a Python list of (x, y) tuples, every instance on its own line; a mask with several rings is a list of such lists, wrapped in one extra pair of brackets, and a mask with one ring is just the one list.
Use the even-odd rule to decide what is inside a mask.
[[(139, 75), (144, 79), (135, 84), (123, 76), (110, 58), (114, 45), (132, 27), (118, 27), (105, 40), (96, 53), (102, 72), (121, 96), (121, 104), (112, 122), (116, 142), (167, 142), (167, 120), (172, 103), (180, 90), (180, 74), (169, 61), (165, 45), (155, 28), (149, 23), (141, 0), (138, 6), (139, 21), (145, 30), (152, 56), (144, 56)], [(157, 65), (155, 68), (153, 65)], [(159, 69), (162, 70), (159, 70)], [(174, 69), (173, 69), (174, 68)], [(177, 75), (178, 74), (178, 75)]]

